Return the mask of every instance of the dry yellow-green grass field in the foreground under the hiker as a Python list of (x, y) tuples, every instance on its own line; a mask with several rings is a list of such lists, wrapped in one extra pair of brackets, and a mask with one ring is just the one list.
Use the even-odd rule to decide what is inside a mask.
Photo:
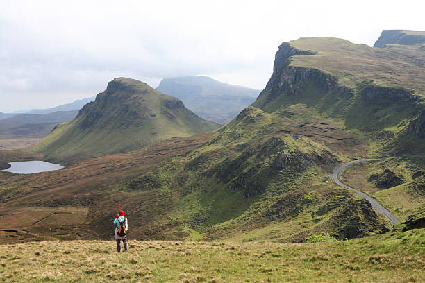
[(425, 229), (333, 243), (43, 241), (1, 246), (1, 282), (424, 282)]

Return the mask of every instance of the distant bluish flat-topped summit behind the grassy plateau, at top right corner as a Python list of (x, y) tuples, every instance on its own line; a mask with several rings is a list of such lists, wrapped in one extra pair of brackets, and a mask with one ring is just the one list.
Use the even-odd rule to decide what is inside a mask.
[(374, 47), (384, 48), (391, 44), (419, 45), (425, 44), (425, 31), (385, 30), (381, 33)]

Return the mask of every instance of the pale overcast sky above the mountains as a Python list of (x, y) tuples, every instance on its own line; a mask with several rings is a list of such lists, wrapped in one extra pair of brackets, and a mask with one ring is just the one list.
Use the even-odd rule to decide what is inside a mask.
[(332, 36), (373, 45), (425, 30), (423, 0), (0, 0), (0, 112), (48, 108), (126, 76), (206, 75), (263, 89), (281, 42)]

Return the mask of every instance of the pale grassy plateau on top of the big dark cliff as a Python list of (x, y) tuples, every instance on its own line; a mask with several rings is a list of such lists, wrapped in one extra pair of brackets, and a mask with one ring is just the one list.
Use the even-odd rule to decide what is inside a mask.
[(292, 58), (291, 66), (317, 68), (338, 78), (338, 83), (356, 87), (363, 80), (376, 85), (412, 89), (424, 96), (425, 54), (408, 49), (377, 49), (332, 37), (301, 38), (289, 42), (316, 55)]

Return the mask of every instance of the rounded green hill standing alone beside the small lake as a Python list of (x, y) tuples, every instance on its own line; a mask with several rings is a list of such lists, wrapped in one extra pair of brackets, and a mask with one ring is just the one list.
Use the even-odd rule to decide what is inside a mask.
[(60, 160), (119, 153), (171, 137), (211, 131), (216, 123), (201, 119), (183, 102), (130, 78), (115, 78), (77, 117), (58, 125), (33, 150)]

